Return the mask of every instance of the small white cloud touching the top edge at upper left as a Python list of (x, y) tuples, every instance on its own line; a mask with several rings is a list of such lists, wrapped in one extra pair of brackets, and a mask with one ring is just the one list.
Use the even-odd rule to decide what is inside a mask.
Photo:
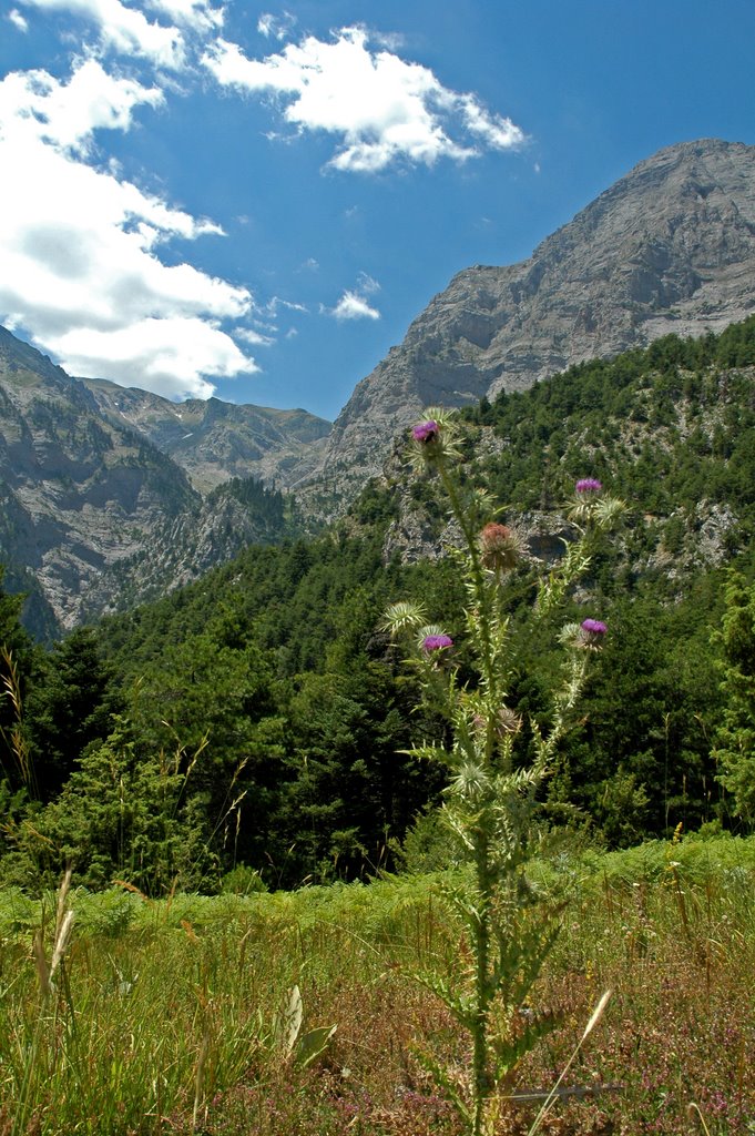
[[(120, 0), (22, 0), (28, 8), (42, 11), (67, 11), (87, 19), (98, 28), (103, 47), (126, 56), (141, 56), (159, 67), (183, 67), (186, 48), (176, 27), (150, 22), (136, 8), (128, 8)], [(191, 3), (173, 7), (192, 9)], [(200, 6), (204, 9), (204, 5)]]

